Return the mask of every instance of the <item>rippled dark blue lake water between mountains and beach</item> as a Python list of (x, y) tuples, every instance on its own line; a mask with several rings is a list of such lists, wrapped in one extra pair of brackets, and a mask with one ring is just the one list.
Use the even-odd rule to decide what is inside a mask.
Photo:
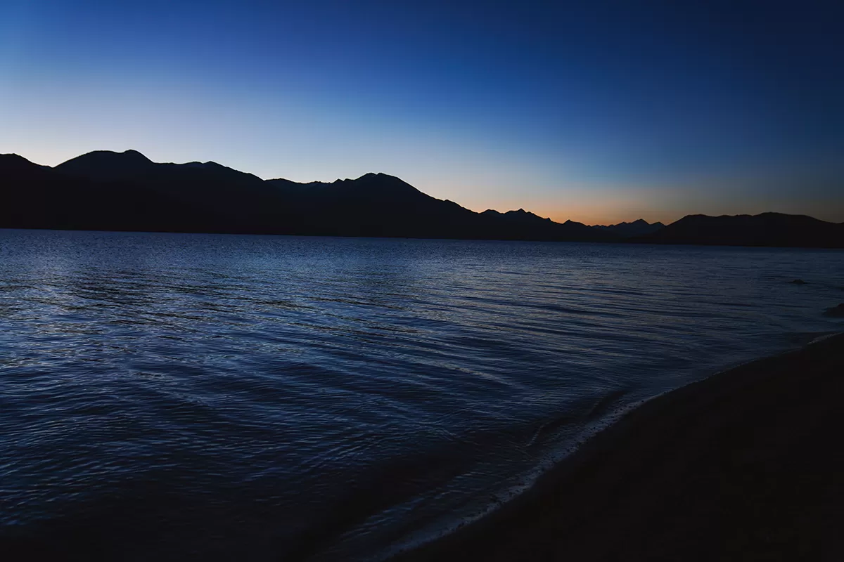
[(840, 330), (841, 286), (836, 251), (0, 230), (0, 538), (378, 559)]

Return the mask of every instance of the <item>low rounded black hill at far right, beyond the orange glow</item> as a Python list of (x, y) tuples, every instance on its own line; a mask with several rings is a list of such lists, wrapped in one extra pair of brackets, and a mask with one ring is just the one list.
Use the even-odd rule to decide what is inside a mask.
[(844, 223), (776, 212), (734, 217), (689, 215), (655, 233), (631, 238), (630, 241), (649, 244), (844, 248)]

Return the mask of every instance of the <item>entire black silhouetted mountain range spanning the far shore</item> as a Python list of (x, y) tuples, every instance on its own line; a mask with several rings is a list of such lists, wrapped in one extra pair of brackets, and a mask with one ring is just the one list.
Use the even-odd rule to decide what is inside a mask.
[[(0, 155), (0, 227), (655, 244), (844, 247), (844, 225), (766, 213), (590, 227), (532, 212), (474, 212), (387, 174), (261, 179), (218, 163), (96, 151), (55, 168)], [(760, 218), (762, 217), (762, 218)]]

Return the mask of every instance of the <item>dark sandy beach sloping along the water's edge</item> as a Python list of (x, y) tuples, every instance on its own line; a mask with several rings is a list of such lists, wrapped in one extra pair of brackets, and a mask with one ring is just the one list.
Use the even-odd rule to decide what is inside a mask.
[(398, 560), (844, 560), (844, 335), (679, 388)]

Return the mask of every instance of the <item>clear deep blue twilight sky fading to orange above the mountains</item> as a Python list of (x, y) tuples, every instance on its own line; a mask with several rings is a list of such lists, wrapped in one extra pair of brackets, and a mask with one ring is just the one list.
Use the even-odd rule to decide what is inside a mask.
[(0, 153), (383, 172), (590, 224), (844, 222), (842, 22), (810, 0), (0, 0)]

